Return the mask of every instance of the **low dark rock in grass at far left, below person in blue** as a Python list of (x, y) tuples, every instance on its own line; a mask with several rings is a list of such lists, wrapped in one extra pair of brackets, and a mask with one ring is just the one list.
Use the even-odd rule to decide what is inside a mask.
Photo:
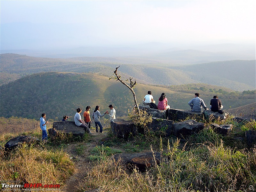
[(33, 144), (33, 143), (39, 143), (40, 140), (36, 137), (30, 137), (27, 135), (23, 135), (23, 136), (18, 136), (15, 137), (9, 141), (7, 141), (7, 143), (4, 145), (5, 149), (13, 149), (19, 146), (19, 144), (21, 143), (27, 143), (27, 144)]

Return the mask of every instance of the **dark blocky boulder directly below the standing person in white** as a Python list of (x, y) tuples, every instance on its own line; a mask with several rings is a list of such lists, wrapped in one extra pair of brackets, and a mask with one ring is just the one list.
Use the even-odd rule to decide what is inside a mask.
[(137, 135), (135, 124), (132, 121), (114, 119), (111, 121), (111, 128), (114, 135), (118, 138), (128, 138)]

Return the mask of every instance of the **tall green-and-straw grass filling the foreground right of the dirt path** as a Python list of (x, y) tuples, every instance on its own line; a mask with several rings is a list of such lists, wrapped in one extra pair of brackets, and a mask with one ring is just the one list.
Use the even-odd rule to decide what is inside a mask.
[[(101, 159), (87, 172), (78, 191), (97, 188), (100, 192), (220, 192), (246, 191), (250, 185), (255, 185), (256, 149), (235, 151), (225, 147), (219, 138), (218, 142), (190, 144), (189, 150), (179, 149), (179, 142), (174, 140), (160, 147), (160, 164), (145, 173), (129, 172), (121, 161)], [(159, 143), (161, 145), (162, 141)]]

